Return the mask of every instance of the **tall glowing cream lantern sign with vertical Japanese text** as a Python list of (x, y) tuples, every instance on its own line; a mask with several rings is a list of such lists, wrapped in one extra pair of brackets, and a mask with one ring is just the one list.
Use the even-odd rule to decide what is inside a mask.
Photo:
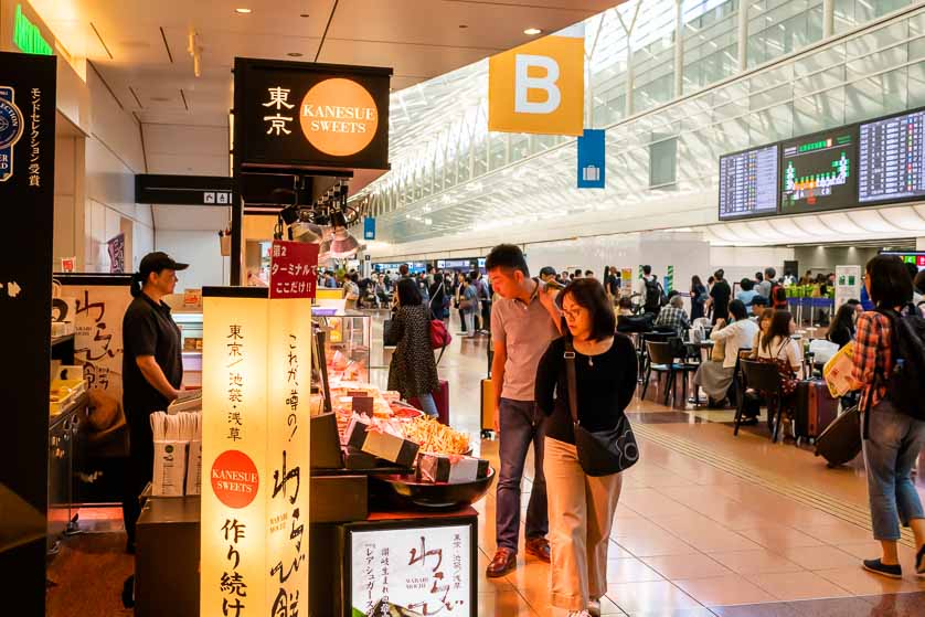
[(310, 313), (203, 289), (203, 616), (308, 613)]

